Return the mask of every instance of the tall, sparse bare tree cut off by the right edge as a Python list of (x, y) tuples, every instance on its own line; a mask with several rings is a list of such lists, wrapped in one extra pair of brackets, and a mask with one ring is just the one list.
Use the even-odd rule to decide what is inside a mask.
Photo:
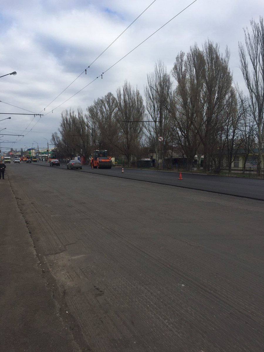
[[(244, 29), (246, 50), (239, 43), (240, 69), (242, 71), (246, 87), (249, 91), (250, 111), (257, 125), (258, 155), (257, 171), (260, 172), (262, 164), (262, 152), (264, 142), (264, 22), (263, 17), (259, 23), (253, 19), (250, 21), (251, 31)], [(247, 55), (251, 63), (251, 72)]]

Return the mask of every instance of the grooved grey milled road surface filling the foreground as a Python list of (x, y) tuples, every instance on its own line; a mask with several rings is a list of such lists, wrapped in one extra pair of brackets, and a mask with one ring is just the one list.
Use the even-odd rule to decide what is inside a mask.
[(263, 201), (57, 169), (7, 166), (87, 348), (263, 351)]

